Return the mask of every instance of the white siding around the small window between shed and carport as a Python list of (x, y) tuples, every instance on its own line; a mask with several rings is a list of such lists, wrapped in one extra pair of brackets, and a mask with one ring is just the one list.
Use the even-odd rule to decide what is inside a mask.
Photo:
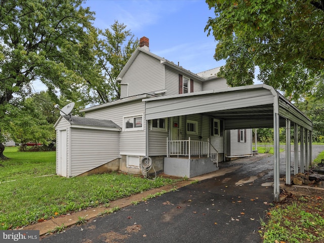
[[(133, 116), (144, 113), (144, 102), (141, 100), (117, 104), (104, 109), (87, 112), (87, 118), (112, 120), (119, 127), (123, 128), (123, 117)], [(121, 131), (120, 154), (145, 155), (145, 130), (146, 121), (143, 121), (143, 127), (139, 131)]]

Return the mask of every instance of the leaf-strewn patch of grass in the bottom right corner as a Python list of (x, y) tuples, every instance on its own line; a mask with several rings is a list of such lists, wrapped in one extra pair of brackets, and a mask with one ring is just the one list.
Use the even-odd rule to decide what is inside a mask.
[(301, 197), (277, 205), (268, 212), (269, 220), (261, 221), (259, 231), (264, 243), (322, 242), (324, 219), (321, 197)]

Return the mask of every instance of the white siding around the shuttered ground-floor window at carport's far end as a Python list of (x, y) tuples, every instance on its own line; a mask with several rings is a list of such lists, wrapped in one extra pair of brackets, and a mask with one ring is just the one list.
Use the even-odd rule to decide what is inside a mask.
[(249, 155), (252, 153), (251, 129), (247, 129), (247, 142), (238, 141), (238, 130), (227, 130), (226, 139), (226, 156)]

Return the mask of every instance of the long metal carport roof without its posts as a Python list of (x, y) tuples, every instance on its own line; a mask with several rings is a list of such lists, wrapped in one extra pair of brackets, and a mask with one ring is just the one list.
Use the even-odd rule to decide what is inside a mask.
[(268, 85), (251, 85), (182, 95), (143, 99), (146, 120), (202, 113), (225, 120), (225, 129), (273, 128), (274, 113), (280, 127), (286, 118), (312, 131), (312, 121)]

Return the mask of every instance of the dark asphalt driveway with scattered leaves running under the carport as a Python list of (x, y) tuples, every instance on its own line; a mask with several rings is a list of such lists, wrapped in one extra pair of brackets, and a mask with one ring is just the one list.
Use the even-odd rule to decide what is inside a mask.
[[(313, 157), (324, 146), (313, 146)], [(273, 207), (273, 157), (221, 163), (232, 172), (45, 236), (41, 242), (261, 242)], [(280, 154), (280, 178), (285, 153)]]

